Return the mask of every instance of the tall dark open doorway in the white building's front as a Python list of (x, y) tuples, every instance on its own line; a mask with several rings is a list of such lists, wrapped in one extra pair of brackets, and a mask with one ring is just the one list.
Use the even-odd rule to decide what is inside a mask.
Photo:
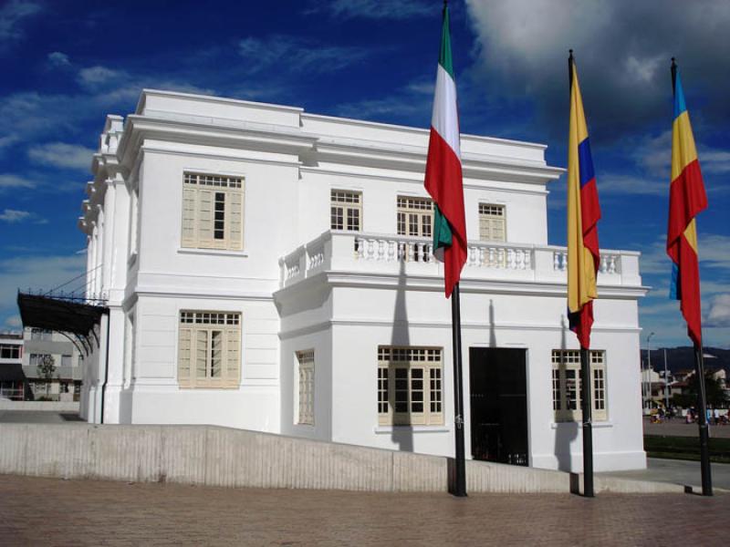
[(527, 466), (527, 350), (469, 348), (472, 457)]

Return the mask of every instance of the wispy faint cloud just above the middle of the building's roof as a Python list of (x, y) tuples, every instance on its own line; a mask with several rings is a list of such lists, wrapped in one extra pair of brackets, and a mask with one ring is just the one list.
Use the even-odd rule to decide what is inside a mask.
[(238, 53), (245, 58), (247, 71), (268, 68), (277, 72), (335, 72), (368, 55), (361, 47), (321, 46), (294, 36), (274, 35), (265, 39), (248, 37), (238, 43)]

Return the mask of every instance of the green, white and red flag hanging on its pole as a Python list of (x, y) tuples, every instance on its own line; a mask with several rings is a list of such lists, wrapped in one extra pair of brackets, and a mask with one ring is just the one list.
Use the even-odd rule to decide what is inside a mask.
[(454, 291), (454, 285), (459, 283), (466, 262), (466, 222), (459, 115), (447, 5), (443, 6), (443, 31), (433, 97), (425, 187), (434, 202), (433, 253), (444, 263), (445, 293), (448, 298)]

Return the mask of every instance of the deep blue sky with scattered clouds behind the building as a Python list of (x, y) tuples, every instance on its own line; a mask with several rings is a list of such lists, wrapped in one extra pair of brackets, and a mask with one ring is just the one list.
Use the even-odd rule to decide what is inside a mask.
[[(688, 345), (667, 299), (670, 58), (677, 57), (710, 208), (698, 219), (704, 343), (730, 347), (730, 4), (714, 0), (453, 1), (464, 132), (548, 145), (565, 166), (568, 48), (598, 175), (601, 247), (639, 250), (641, 325)], [(0, 3), (0, 329), (18, 287), (85, 267), (76, 228), (108, 113), (141, 88), (211, 93), (427, 128), (438, 0)], [(550, 243), (565, 243), (565, 179), (550, 186)], [(79, 282), (78, 285), (82, 285)], [(66, 288), (74, 288), (73, 284)], [(600, 318), (599, 318), (600, 320)]]

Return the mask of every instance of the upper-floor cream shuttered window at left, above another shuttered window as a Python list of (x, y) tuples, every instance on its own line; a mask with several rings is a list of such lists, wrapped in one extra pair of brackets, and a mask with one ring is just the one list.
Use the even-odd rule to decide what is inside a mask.
[(243, 249), (243, 185), (242, 177), (184, 173), (183, 247)]

